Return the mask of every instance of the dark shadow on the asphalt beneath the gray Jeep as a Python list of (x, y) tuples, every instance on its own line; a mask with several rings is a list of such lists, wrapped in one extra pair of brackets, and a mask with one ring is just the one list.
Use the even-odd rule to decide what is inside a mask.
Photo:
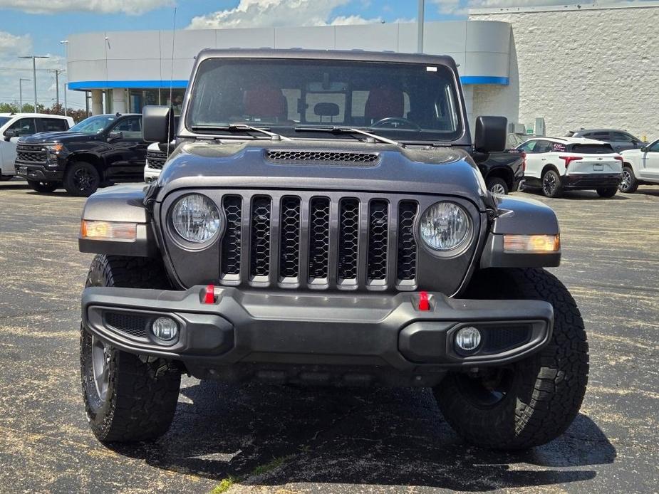
[(556, 441), (513, 454), (460, 441), (428, 390), (194, 382), (182, 389), (170, 432), (155, 443), (113, 449), (217, 482), (469, 491), (589, 480), (597, 474), (592, 466), (616, 458), (583, 414)]

